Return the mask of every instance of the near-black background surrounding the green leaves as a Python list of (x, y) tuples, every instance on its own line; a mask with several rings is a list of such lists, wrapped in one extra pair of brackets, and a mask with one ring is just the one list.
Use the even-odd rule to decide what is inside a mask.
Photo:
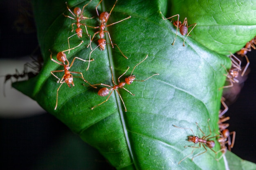
[[(38, 46), (30, 2), (2, 1), (0, 18), (0, 60), (30, 55)], [(248, 57), (250, 73), (226, 116), (230, 117), (229, 130), (236, 131), (232, 152), (256, 163), (256, 51), (249, 52)], [(97, 150), (48, 113), (0, 118), (0, 135), (0, 165), (5, 169), (113, 169)], [(56, 165), (57, 161), (61, 163)]]

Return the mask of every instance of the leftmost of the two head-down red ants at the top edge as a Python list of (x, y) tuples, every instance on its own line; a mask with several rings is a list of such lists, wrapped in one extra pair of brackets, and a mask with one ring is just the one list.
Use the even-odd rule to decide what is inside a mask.
[[(81, 20), (85, 20), (85, 19), (92, 19), (92, 18), (94, 18), (94, 17), (88, 18), (88, 17), (84, 17), (84, 16), (83, 16), (83, 10), (84, 10), (84, 8), (85, 8), (91, 1), (92, 1), (92, 0), (90, 0), (87, 4), (85, 4), (85, 5), (83, 6), (83, 9), (82, 9), (82, 10), (81, 10), (79, 7), (75, 7), (75, 8), (74, 8), (74, 13), (73, 13), (73, 12), (68, 8), (68, 6), (67, 6), (68, 11), (70, 11), (70, 13), (71, 13), (75, 18), (73, 18), (73, 17), (71, 17), (71, 16), (69, 16), (69, 15), (65, 15), (65, 14), (63, 13), (63, 15), (64, 15), (65, 17), (71, 18), (72, 20), (76, 20), (75, 23), (72, 23), (72, 31), (71, 31), (71, 32), (74, 31), (74, 26), (73, 26), (73, 25), (76, 24), (77, 29), (76, 29), (76, 33), (75, 33), (74, 35), (77, 35), (78, 38), (82, 38), (82, 33), (83, 33), (83, 30), (80, 28), (80, 26), (81, 26), (81, 25), (85, 26), (86, 33), (87, 33), (88, 37), (90, 37), (90, 44), (89, 44), (90, 46), (91, 46), (91, 35), (88, 34), (86, 25), (80, 23), (80, 21), (81, 21)], [(65, 3), (66, 3), (66, 5), (67, 5), (67, 2), (65, 2)], [(76, 14), (76, 15), (75, 15), (75, 14)], [(69, 38), (67, 38), (68, 48), (69, 48), (69, 49), (70, 49), (70, 42), (69, 42), (69, 39), (70, 39), (72, 36), (74, 36), (74, 35), (71, 35)], [(89, 45), (88, 45), (88, 46), (89, 46)], [(91, 47), (91, 50), (92, 50), (92, 47)], [(70, 53), (70, 51), (69, 51), (68, 53)]]

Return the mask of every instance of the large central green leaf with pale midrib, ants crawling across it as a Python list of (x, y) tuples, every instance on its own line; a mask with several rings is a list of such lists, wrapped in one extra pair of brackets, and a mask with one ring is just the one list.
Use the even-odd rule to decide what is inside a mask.
[[(87, 3), (88, 1), (78, 0), (67, 2), (71, 10), (74, 7), (82, 8)], [(85, 7), (84, 15), (95, 18), (83, 23), (89, 26), (99, 25), (95, 11), (98, 3), (99, 1), (92, 1)], [(114, 3), (115, 0), (103, 0), (98, 10), (110, 11)], [(223, 159), (217, 162), (215, 153), (209, 149), (191, 161), (193, 156), (204, 152), (203, 147), (195, 148), (193, 155), (179, 165), (178, 162), (193, 150), (184, 148), (193, 146), (193, 143), (187, 141), (187, 136), (193, 133), (189, 129), (175, 128), (173, 125), (191, 128), (195, 135), (202, 137), (195, 122), (209, 135), (207, 120), (210, 119), (212, 136), (215, 135), (218, 131), (218, 110), (222, 95), (219, 88), (226, 79), (223, 66), (230, 68), (231, 61), (190, 37), (186, 39), (185, 46), (182, 46), (185, 37), (179, 33), (175, 44), (171, 45), (176, 29), (170, 21), (163, 20), (160, 13), (160, 9), (166, 13), (166, 4), (165, 0), (118, 1), (108, 23), (117, 22), (129, 15), (131, 18), (109, 26), (108, 30), (112, 42), (118, 44), (128, 59), (121, 55), (116, 46), (112, 49), (108, 44), (104, 51), (95, 49), (92, 52), (94, 61), (90, 63), (88, 71), (88, 63), (81, 60), (75, 60), (70, 68), (70, 71), (82, 72), (90, 84), (104, 83), (113, 86), (110, 66), (113, 67), (116, 82), (127, 67), (130, 67), (120, 79), (124, 82), (124, 77), (129, 76), (132, 68), (148, 55), (133, 74), (137, 80), (146, 79), (155, 73), (159, 75), (144, 82), (125, 85), (135, 96), (119, 89), (127, 112), (116, 92), (108, 102), (91, 110), (107, 97), (97, 95), (97, 91), (103, 86), (94, 89), (80, 78), (74, 78), (73, 88), (65, 84), (61, 86), (58, 107), (54, 110), (60, 84), (50, 72), (61, 70), (63, 66), (50, 60), (48, 50), (51, 49), (56, 60), (59, 51), (68, 49), (67, 38), (74, 34), (71, 32), (74, 20), (63, 16), (62, 13), (71, 14), (62, 0), (33, 1), (44, 66), (35, 78), (13, 86), (35, 99), (85, 142), (97, 148), (117, 169), (224, 169)], [(173, 4), (173, 7), (178, 4)], [(195, 30), (198, 27), (199, 23)], [(82, 28), (85, 32), (84, 27)], [(98, 31), (89, 27), (87, 29), (91, 35)], [(204, 36), (208, 34), (204, 33)], [(97, 47), (98, 38), (99, 35), (96, 35), (92, 42), (93, 49)], [(74, 57), (88, 60), (91, 50), (86, 48), (89, 43), (87, 35), (80, 39), (73, 36), (70, 38), (70, 46), (77, 46), (81, 40), (84, 41), (81, 46), (70, 51), (70, 54), (66, 52), (70, 62)], [(230, 44), (230, 48), (231, 46), (233, 44)], [(56, 75), (62, 77), (63, 72)], [(26, 90), (28, 87), (29, 90)], [(216, 143), (213, 149), (218, 151), (219, 144)]]

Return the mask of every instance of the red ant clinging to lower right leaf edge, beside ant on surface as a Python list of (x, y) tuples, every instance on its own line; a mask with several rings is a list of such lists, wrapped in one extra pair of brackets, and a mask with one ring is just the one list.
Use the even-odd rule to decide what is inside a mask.
[[(227, 146), (226, 144), (228, 144), (228, 150), (231, 151), (231, 148), (233, 148), (234, 143), (235, 143), (235, 137), (236, 137), (236, 132), (229, 132), (229, 130), (227, 129), (227, 127), (229, 127), (229, 124), (223, 124), (223, 122), (229, 120), (229, 117), (220, 117), (220, 120), (218, 122), (219, 124), (219, 128), (220, 128), (220, 138), (218, 139), (218, 142), (220, 143), (220, 150), (218, 152), (216, 152), (216, 155), (219, 152), (222, 152), (222, 155), (216, 159), (217, 161), (219, 161), (223, 155), (227, 152)], [(230, 136), (233, 135), (232, 137), (232, 142), (231, 142), (231, 138)]]

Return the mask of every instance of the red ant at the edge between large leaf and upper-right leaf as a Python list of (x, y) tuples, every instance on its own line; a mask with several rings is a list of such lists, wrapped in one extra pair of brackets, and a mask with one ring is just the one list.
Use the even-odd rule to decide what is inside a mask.
[[(175, 21), (174, 18), (173, 18), (173, 17), (175, 17), (175, 16), (178, 17), (177, 21)], [(163, 20), (168, 20), (168, 19), (173, 18), (173, 19), (171, 20), (171, 22), (174, 20), (173, 25), (177, 27), (176, 36), (175, 36), (175, 38), (174, 38), (174, 41), (173, 41), (173, 44), (172, 44), (172, 45), (174, 45), (175, 40), (176, 40), (176, 38), (177, 38), (178, 29), (180, 29), (181, 35), (186, 35), (186, 34), (187, 34), (187, 35), (186, 35), (186, 38), (187, 38), (188, 36), (191, 36), (191, 35), (189, 35), (189, 34), (191, 33), (191, 31), (192, 31), (192, 30), (195, 28), (195, 26), (196, 26), (196, 23), (191, 24), (191, 25), (188, 26), (188, 19), (187, 19), (187, 18), (184, 19), (183, 23), (181, 23), (181, 21), (179, 21), (179, 19), (180, 19), (180, 15), (179, 15), (179, 14), (173, 15), (173, 16), (171, 16), (171, 17), (169, 17), (169, 18), (164, 18), (164, 17), (162, 17), (162, 18), (163, 18)], [(188, 28), (189, 28), (190, 26), (193, 26), (193, 28), (192, 28), (190, 31), (188, 31)], [(185, 46), (184, 43), (185, 43), (185, 41), (186, 41), (186, 38), (185, 38), (184, 41), (183, 41), (183, 46)]]

